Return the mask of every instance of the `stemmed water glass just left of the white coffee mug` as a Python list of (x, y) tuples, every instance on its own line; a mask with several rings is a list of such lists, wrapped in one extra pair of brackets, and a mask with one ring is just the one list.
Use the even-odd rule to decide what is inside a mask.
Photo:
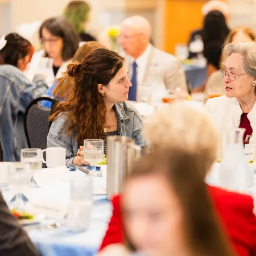
[(31, 172), (31, 187), (39, 188), (34, 180), (34, 173), (42, 169), (42, 150), (40, 148), (24, 148), (20, 154), (21, 162), (28, 163)]

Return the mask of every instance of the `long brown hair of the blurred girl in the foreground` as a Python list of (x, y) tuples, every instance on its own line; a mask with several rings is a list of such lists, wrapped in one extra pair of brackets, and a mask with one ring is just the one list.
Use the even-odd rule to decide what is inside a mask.
[[(205, 172), (200, 170), (201, 160), (201, 154), (176, 147), (151, 152), (135, 163), (126, 182), (129, 185), (129, 181), (136, 177), (162, 175), (174, 189), (183, 207), (185, 238), (192, 255), (232, 256), (230, 241), (221, 230), (201, 175)], [(125, 237), (130, 249), (136, 250), (127, 234)]]

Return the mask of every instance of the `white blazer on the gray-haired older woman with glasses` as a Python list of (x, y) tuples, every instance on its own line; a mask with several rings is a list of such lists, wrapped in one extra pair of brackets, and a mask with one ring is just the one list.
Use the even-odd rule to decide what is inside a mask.
[[(230, 129), (240, 126), (242, 109), (236, 98), (228, 98), (226, 96), (212, 98), (205, 105), (205, 112), (210, 115), (221, 135), (220, 157), (225, 151), (227, 144), (227, 134)], [(247, 115), (251, 128), (253, 129), (253, 137), (250, 139), (251, 144), (256, 142), (256, 106)]]

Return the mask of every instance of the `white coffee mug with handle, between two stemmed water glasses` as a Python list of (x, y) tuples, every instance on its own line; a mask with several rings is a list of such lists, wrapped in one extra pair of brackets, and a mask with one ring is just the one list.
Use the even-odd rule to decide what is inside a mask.
[[(46, 152), (46, 160), (44, 160), (44, 152)], [(46, 163), (47, 167), (65, 166), (66, 149), (64, 147), (48, 147), (42, 150), (42, 162)]]

